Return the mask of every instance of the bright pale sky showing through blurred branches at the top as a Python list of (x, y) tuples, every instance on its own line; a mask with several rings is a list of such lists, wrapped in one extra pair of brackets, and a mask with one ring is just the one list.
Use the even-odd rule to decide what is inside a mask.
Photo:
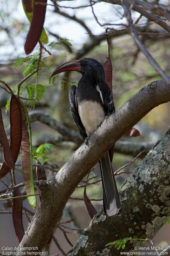
[[(24, 54), (24, 41), (26, 37), (26, 33), (22, 30), (22, 27), (19, 29), (21, 30), (21, 33), (17, 35), (19, 24), (16, 22), (16, 20), (19, 20), (24, 26), (24, 24), (28, 24), (28, 20), (25, 16), (25, 13), (22, 8), (21, 1), (16, 4), (16, 7), (11, 5), (11, 3), (14, 3), (15, 1), (11, 0), (0, 0), (1, 6), (0, 6), (0, 12), (3, 13), (8, 12), (10, 15), (9, 17), (4, 18), (4, 26), (5, 24), (9, 24), (11, 28), (16, 27), (17, 30), (11, 29), (11, 34), (13, 35), (13, 42), (8, 42), (6, 44), (3, 43), (3, 45), (0, 47), (0, 62), (4, 63), (4, 59), (8, 58), (15, 58), (18, 56), (21, 56)], [(17, 3), (17, 1), (16, 1)], [(50, 0), (47, 1), (47, 3), (52, 4)], [(82, 1), (82, 0), (76, 0), (76, 1), (64, 1), (59, 2), (60, 5), (65, 6), (80, 6), (89, 4), (89, 1)], [(13, 10), (12, 13), (10, 10)], [(45, 29), (48, 28), (51, 32), (58, 34), (62, 38), (68, 38), (73, 40), (73, 48), (79, 49), (81, 48), (81, 45), (88, 39), (88, 35), (85, 34), (87, 31), (78, 23), (69, 20), (65, 17), (62, 17), (61, 15), (52, 13), (53, 7), (47, 6), (46, 11), (46, 18), (44, 27)], [(94, 35), (99, 35), (100, 33), (104, 33), (105, 30), (100, 27), (100, 25), (96, 22), (94, 19), (94, 16), (91, 11), (91, 7), (83, 8), (83, 9), (69, 9), (69, 8), (61, 8), (61, 11), (65, 11), (69, 13), (70, 15), (76, 15), (79, 19), (84, 20), (86, 25), (91, 29), (92, 33)], [(98, 20), (100, 23), (106, 23), (106, 22), (112, 22), (112, 23), (124, 23), (126, 22), (124, 19), (120, 19), (121, 14), (123, 11), (121, 9), (121, 6), (118, 5), (110, 5), (108, 3), (100, 2), (96, 5), (94, 5), (94, 12), (96, 16), (98, 17)], [(138, 13), (133, 14), (133, 18), (137, 18), (139, 16)], [(118, 26), (114, 26), (117, 27)], [(48, 34), (48, 32), (47, 32)], [(7, 38), (7, 34), (4, 31), (0, 32), (0, 42), (3, 42), (5, 38)], [(49, 36), (49, 43), (52, 42), (54, 37)], [(47, 44), (48, 45), (48, 44)], [(38, 47), (37, 47), (38, 49)], [(35, 49), (34, 51), (36, 51)]]

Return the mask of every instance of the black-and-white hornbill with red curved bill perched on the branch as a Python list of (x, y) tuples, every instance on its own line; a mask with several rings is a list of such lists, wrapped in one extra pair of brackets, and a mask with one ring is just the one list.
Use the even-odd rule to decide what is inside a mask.
[[(100, 62), (92, 58), (68, 61), (58, 66), (51, 76), (71, 70), (82, 74), (78, 86), (72, 85), (69, 90), (69, 101), (74, 123), (88, 145), (89, 136), (101, 126), (108, 114), (115, 112), (113, 96), (105, 82), (105, 72)], [(103, 209), (108, 216), (121, 214), (121, 203), (111, 164), (113, 153), (114, 145), (99, 162)]]

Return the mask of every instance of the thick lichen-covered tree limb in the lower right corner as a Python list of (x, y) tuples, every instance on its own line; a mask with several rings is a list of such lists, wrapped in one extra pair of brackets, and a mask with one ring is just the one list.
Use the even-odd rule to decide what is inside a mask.
[[(119, 256), (120, 250), (106, 247), (108, 242), (155, 236), (170, 213), (169, 147), (170, 129), (119, 189), (122, 215), (106, 217), (101, 210), (67, 256), (97, 255), (97, 252), (106, 255), (104, 251), (108, 256)], [(142, 246), (146, 243), (142, 242)], [(135, 245), (141, 245), (141, 241), (128, 242), (123, 251), (134, 249)]]

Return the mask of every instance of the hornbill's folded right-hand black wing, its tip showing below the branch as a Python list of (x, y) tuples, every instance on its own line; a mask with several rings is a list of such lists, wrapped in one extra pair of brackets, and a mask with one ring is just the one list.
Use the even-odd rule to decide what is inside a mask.
[[(108, 114), (115, 113), (113, 95), (112, 95), (112, 92), (110, 91), (110, 88), (109, 88), (108, 84), (104, 81), (100, 81), (98, 83), (98, 88), (99, 88), (101, 100), (103, 102), (105, 115), (107, 116)], [(110, 154), (111, 161), (113, 159), (114, 148), (115, 148), (115, 145), (113, 145), (109, 149), (109, 154)]]

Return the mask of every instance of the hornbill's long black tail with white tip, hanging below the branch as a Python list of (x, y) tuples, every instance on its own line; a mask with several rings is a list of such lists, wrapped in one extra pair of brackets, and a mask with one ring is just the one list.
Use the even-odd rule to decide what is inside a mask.
[(105, 214), (112, 216), (121, 214), (121, 203), (116, 186), (115, 176), (109, 151), (100, 160), (100, 171), (103, 186), (103, 209)]

